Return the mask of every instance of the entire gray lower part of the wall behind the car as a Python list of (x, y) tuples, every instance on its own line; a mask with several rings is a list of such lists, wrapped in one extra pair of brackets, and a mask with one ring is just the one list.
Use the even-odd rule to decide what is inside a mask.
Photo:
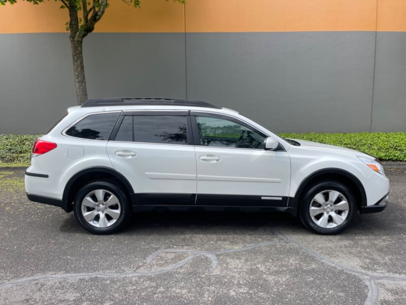
[[(76, 104), (68, 35), (1, 34), (0, 52), (0, 133), (45, 133)], [(276, 132), (406, 130), (405, 33), (91, 34), (84, 56), (89, 97), (201, 99)]]

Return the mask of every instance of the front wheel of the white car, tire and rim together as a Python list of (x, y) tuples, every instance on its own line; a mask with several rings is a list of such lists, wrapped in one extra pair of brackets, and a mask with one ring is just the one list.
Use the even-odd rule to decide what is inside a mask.
[(304, 226), (320, 234), (336, 234), (349, 226), (356, 205), (346, 185), (322, 181), (304, 194), (299, 209)]

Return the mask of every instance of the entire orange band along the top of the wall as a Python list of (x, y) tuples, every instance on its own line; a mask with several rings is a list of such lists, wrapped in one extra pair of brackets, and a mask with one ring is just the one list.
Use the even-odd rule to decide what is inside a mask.
[[(94, 32), (404, 31), (406, 0), (111, 0)], [(67, 10), (49, 1), (0, 7), (0, 33), (65, 33)], [(377, 13), (378, 8), (378, 13)], [(376, 21), (378, 20), (378, 25)]]

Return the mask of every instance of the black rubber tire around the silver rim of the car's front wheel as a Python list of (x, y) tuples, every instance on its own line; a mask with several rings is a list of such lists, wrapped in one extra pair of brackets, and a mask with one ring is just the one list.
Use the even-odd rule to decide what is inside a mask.
[[(323, 192), (324, 191), (324, 192)], [(330, 216), (328, 216), (327, 211), (323, 211), (321, 214), (317, 215), (316, 217), (319, 217), (319, 220), (322, 217), (326, 217), (328, 220), (328, 225), (327, 226), (334, 226), (335, 227), (322, 227), (319, 226), (318, 224), (315, 223), (315, 221), (312, 219), (310, 215), (310, 205), (312, 204), (312, 207), (322, 209), (322, 208), (333, 208), (335, 205), (333, 204), (333, 207), (330, 207), (330, 204), (328, 206), (323, 206), (324, 204), (319, 204), (317, 201), (313, 201), (316, 195), (319, 193), (322, 193), (322, 196), (327, 198), (329, 194), (329, 191), (337, 191), (341, 194), (341, 196), (344, 196), (346, 201), (348, 202), (348, 209), (346, 211), (341, 211), (341, 210), (336, 210), (335, 212), (330, 210)], [(340, 196), (339, 196), (340, 197)], [(342, 198), (342, 197), (340, 197)], [(337, 198), (339, 200), (339, 198)], [(334, 203), (337, 204), (337, 201), (335, 200)], [(325, 202), (324, 202), (325, 203)], [(327, 204), (327, 203), (326, 203)], [(302, 199), (300, 200), (300, 206), (299, 206), (299, 218), (302, 224), (307, 227), (308, 229), (319, 233), (319, 234), (324, 234), (324, 235), (332, 235), (332, 234), (337, 234), (345, 230), (351, 223), (354, 214), (356, 210), (356, 201), (353, 193), (351, 190), (344, 184), (338, 182), (338, 181), (321, 181), (317, 185), (314, 185), (311, 187), (307, 192), (304, 193), (302, 196)], [(343, 223), (337, 225), (334, 224), (333, 218), (332, 218), (332, 213), (346, 213), (346, 217)], [(343, 214), (342, 214), (343, 215)], [(335, 216), (335, 215), (334, 215)], [(340, 215), (341, 216), (341, 215)], [(344, 217), (343, 217), (344, 218)], [(317, 220), (317, 219), (316, 219)]]

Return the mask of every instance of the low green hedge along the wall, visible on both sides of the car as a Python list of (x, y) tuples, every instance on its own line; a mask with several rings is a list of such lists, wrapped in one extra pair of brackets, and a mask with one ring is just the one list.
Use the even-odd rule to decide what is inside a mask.
[[(281, 133), (280, 136), (363, 151), (380, 160), (406, 161), (406, 133)], [(39, 135), (0, 135), (0, 166), (28, 166)]]

